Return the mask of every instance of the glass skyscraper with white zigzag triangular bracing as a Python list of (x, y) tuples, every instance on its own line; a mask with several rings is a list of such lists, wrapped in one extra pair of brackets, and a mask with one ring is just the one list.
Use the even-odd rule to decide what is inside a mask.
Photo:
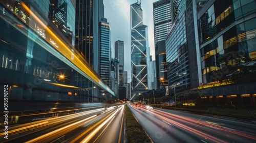
[(130, 8), (132, 88), (135, 94), (139, 94), (148, 89), (147, 60), (149, 53), (147, 26), (143, 25), (141, 3), (134, 3)]

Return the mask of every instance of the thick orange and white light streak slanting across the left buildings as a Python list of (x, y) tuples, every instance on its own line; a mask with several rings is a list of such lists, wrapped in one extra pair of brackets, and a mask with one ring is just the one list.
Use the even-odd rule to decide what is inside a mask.
[[(4, 4), (5, 5), (5, 4)], [(42, 21), (42, 19), (39, 19), (36, 14), (34, 14), (29, 7), (27, 7), (27, 5), (24, 4), (24, 2), (20, 2), (20, 6), (22, 6), (24, 8), (24, 10), (29, 13), (29, 17), (30, 20), (34, 20), (34, 25), (28, 25), (31, 30), (35, 31), (34, 26), (38, 26), (42, 29), (45, 30), (45, 35), (50, 36), (50, 38), (46, 38), (46, 37), (42, 37), (44, 38), (44, 40), (48, 41), (48, 44), (45, 44), (44, 40), (41, 40), (41, 43), (44, 43), (44, 45), (42, 45), (42, 47), (44, 47), (48, 52), (52, 53), (53, 55), (55, 55), (57, 58), (59, 58), (61, 61), (63, 61), (64, 63), (68, 64), (69, 66), (71, 66), (72, 68), (74, 68), (76, 71), (78, 71), (78, 73), (80, 73), (82, 76), (88, 78), (90, 81), (94, 82), (95, 84), (97, 84), (99, 87), (101, 87), (102, 89), (105, 89), (106, 91), (108, 91), (109, 93), (111, 93), (113, 96), (116, 96), (115, 92), (111, 90), (111, 88), (105, 84), (105, 82), (99, 77), (99, 75), (96, 73), (96, 71), (93, 69), (93, 67), (91, 67), (91, 65), (89, 64), (88, 61), (86, 61), (86, 59), (84, 59), (84, 57), (82, 57), (82, 55), (75, 50), (75, 48), (73, 47), (73, 49), (70, 49), (68, 47), (68, 44), (66, 43), (63, 39), (61, 39), (60, 37), (58, 37), (55, 31), (51, 30), (48, 26), (46, 26), (45, 23), (47, 23), (46, 21)], [(30, 23), (33, 23), (30, 22)], [(36, 31), (35, 31), (36, 33)], [(34, 33), (30, 33), (31, 35), (34, 35)], [(36, 35), (36, 37), (39, 35)], [(33, 37), (30, 37), (33, 40)], [(39, 45), (41, 45), (41, 43), (39, 43)], [(52, 46), (49, 46), (49, 44), (51, 44)], [(76, 87), (72, 87), (72, 88), (76, 88)]]

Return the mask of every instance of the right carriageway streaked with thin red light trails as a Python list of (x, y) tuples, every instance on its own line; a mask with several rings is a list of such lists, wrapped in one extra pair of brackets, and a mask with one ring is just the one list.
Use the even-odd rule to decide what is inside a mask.
[(256, 142), (256, 125), (148, 106), (128, 105), (154, 142)]

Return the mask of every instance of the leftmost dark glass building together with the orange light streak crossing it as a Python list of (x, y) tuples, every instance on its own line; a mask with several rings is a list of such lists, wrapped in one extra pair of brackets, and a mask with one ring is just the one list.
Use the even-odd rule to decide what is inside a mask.
[(81, 79), (109, 89), (74, 47), (75, 1), (0, 1), (0, 7), (0, 86), (11, 87), (9, 100), (97, 101)]

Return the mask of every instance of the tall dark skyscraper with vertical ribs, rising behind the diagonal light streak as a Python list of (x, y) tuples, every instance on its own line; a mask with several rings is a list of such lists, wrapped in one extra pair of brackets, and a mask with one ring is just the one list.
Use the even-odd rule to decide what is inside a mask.
[[(76, 0), (75, 47), (98, 74), (100, 71), (99, 23), (101, 18), (104, 18), (103, 0)], [(95, 86), (83, 77), (77, 77), (77, 84), (84, 86), (84, 88)], [(99, 94), (98, 90), (99, 88), (93, 88), (93, 90), (80, 90), (80, 92), (87, 94), (89, 96), (88, 101), (93, 102), (93, 97)]]

